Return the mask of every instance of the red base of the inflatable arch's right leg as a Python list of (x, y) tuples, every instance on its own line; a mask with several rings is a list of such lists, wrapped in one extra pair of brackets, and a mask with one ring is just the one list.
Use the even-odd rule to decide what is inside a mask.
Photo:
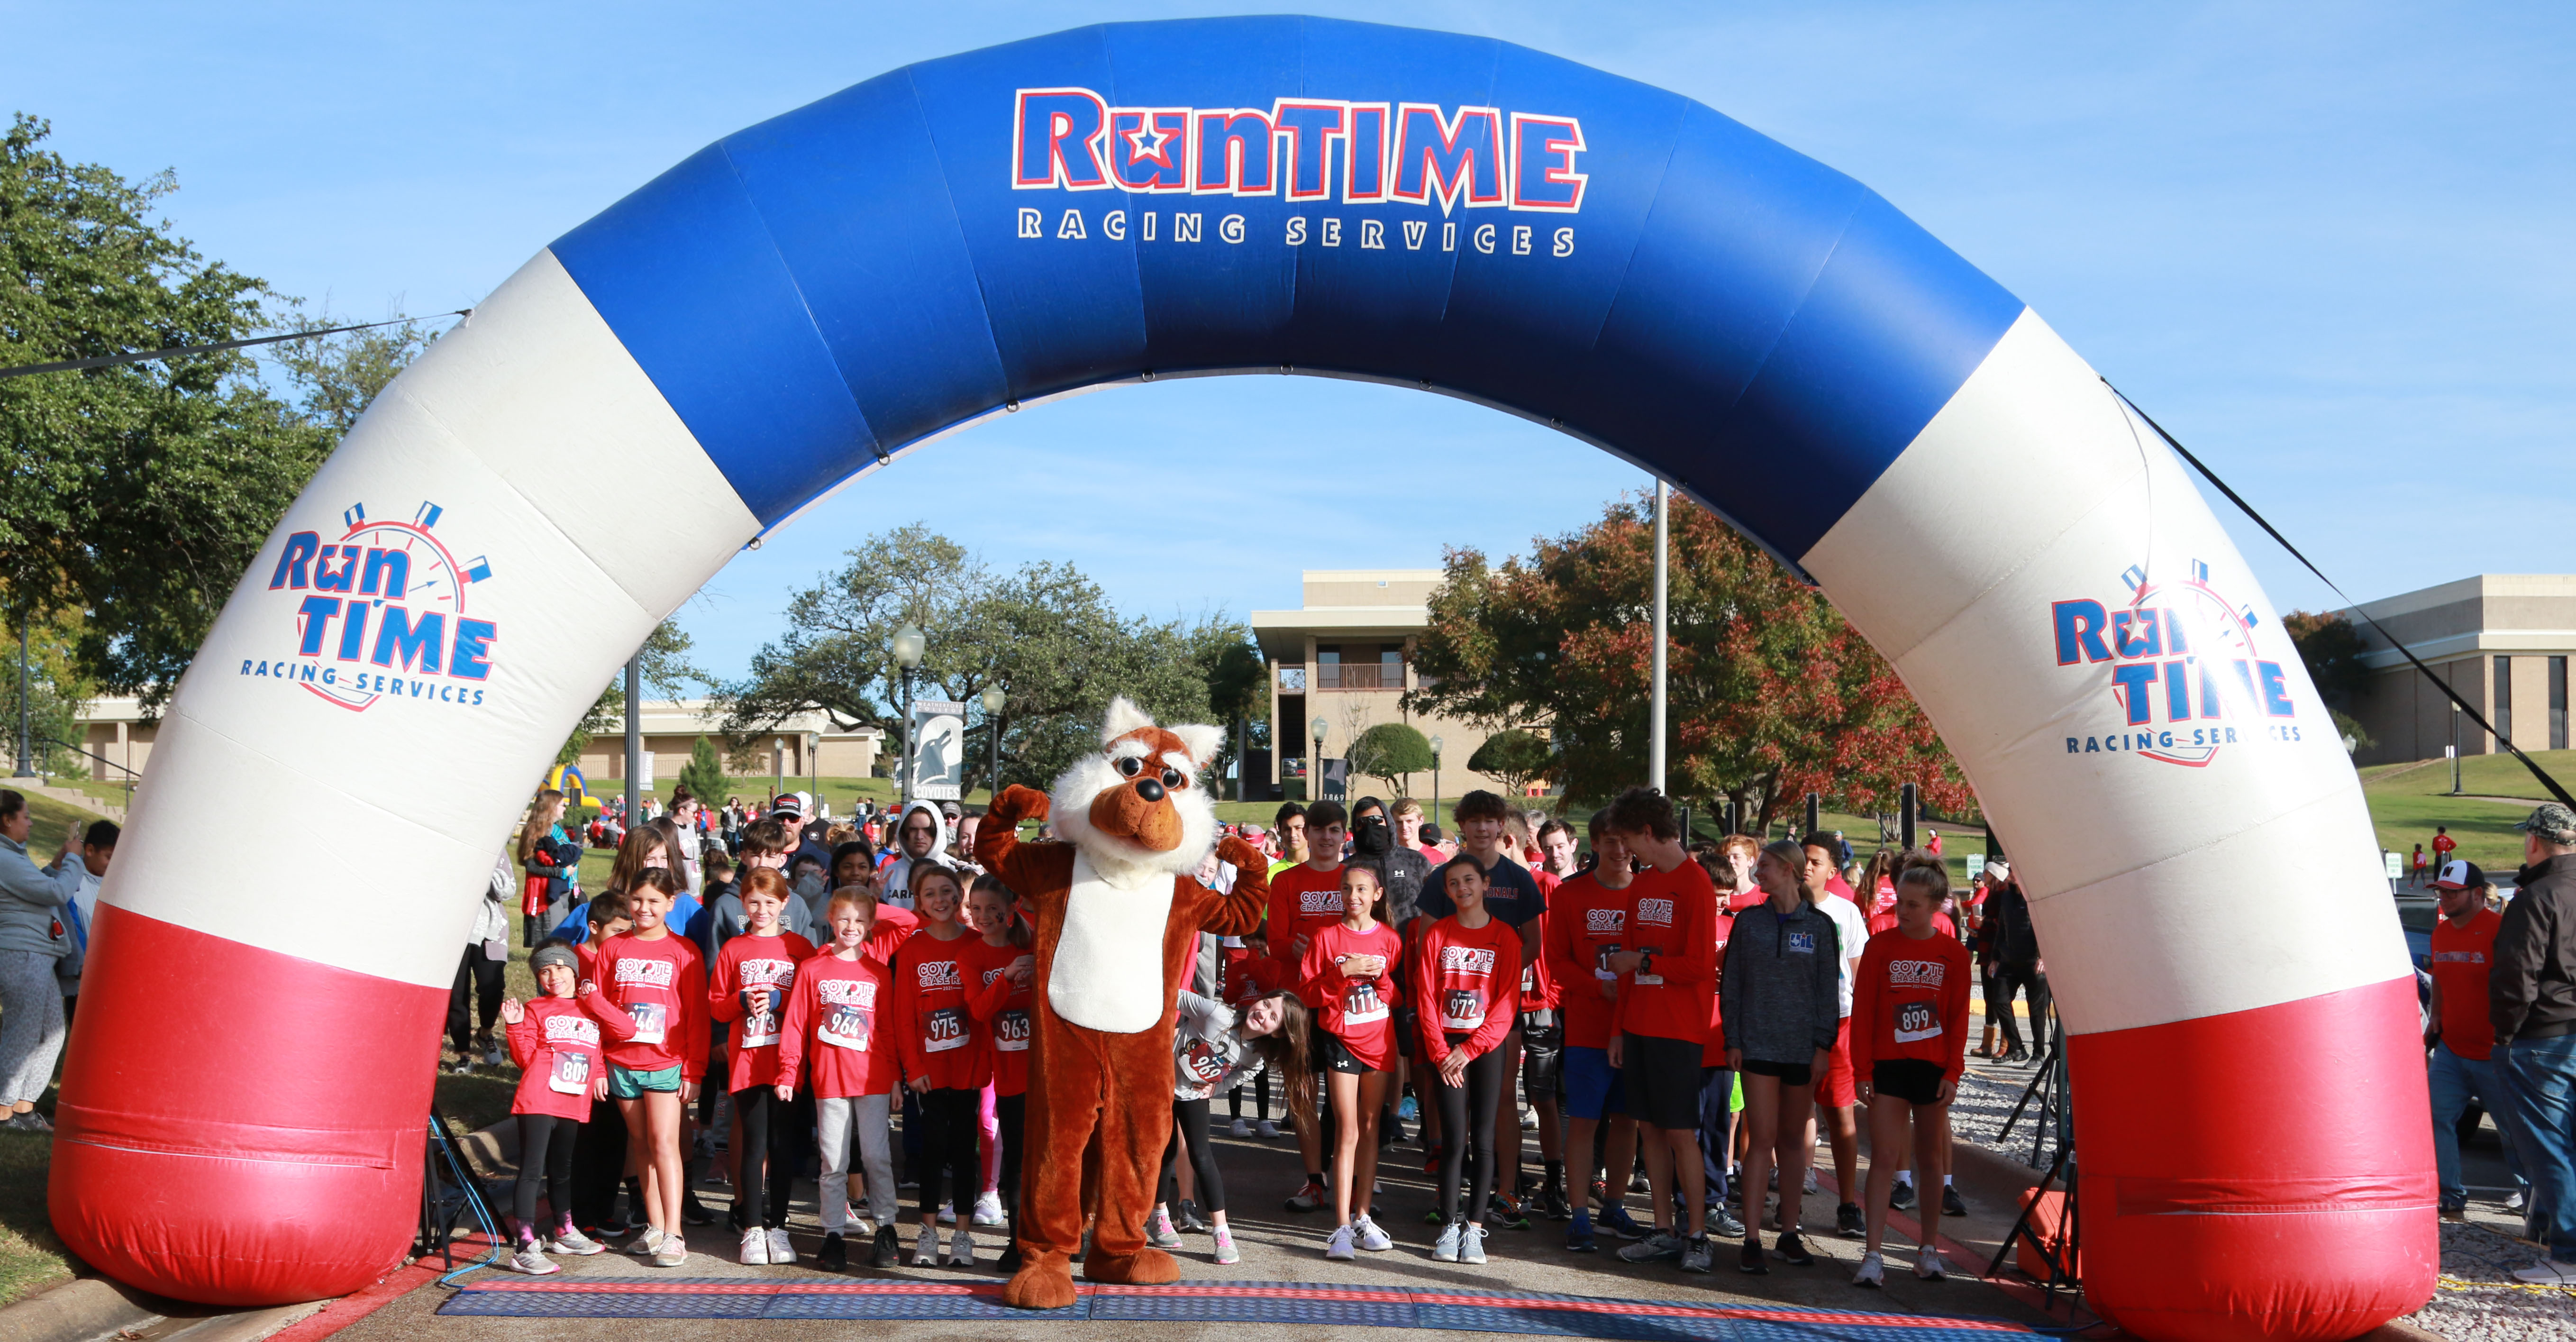
[(2342, 1342), (2432, 1298), (2411, 979), (2066, 1048), (2105, 1319), (2159, 1342)]

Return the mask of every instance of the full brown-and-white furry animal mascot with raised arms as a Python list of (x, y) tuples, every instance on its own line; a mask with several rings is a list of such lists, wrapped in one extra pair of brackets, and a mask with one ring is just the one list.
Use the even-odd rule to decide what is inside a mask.
[[(1118, 698), (1100, 755), (1064, 770), (1054, 793), (1002, 788), (976, 832), (976, 860), (1038, 925), (1023, 1267), (1002, 1288), (1005, 1303), (1074, 1303), (1069, 1262), (1082, 1244), (1084, 1149), (1095, 1144), (1100, 1221), (1084, 1275), (1180, 1280), (1172, 1254), (1144, 1242), (1172, 1139), (1172, 1002), (1198, 935), (1249, 932), (1270, 902), (1265, 858), (1231, 835), (1216, 855), (1234, 868), (1234, 891), (1216, 894), (1190, 876), (1216, 840), (1216, 801), (1200, 770), (1221, 739), (1218, 726), (1154, 726)], [(1025, 819), (1051, 819), (1064, 840), (1020, 842)]]

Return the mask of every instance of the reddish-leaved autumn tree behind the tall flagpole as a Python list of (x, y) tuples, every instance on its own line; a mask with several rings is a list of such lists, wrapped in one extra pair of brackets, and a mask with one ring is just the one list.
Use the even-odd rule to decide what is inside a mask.
[[(1896, 670), (1821, 592), (1708, 510), (1672, 502), (1667, 780), (1674, 799), (1736, 801), (1759, 824), (1808, 791), (1893, 811), (1976, 799)], [(1414, 662), (1419, 711), (1540, 729), (1548, 778), (1597, 801), (1643, 780), (1654, 659), (1654, 515), (1620, 497), (1602, 520), (1533, 541), (1499, 567), (1448, 556)]]

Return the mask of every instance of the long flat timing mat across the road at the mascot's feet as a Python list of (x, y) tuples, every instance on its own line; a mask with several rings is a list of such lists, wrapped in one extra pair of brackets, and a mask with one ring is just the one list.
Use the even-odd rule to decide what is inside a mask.
[(2002, 1319), (1275, 1280), (1079, 1285), (1079, 1298), (1072, 1306), (1025, 1311), (1002, 1303), (1002, 1283), (997, 1280), (500, 1278), (461, 1288), (438, 1306), (438, 1314), (505, 1319), (1332, 1324), (1636, 1342), (1989, 1342), (1996, 1337), (2038, 1337), (2022, 1324)]

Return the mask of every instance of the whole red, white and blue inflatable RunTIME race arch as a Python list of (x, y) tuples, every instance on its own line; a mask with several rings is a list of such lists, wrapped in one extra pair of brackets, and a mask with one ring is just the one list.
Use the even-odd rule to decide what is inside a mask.
[(680, 162), (404, 371), (160, 729), (62, 1084), (62, 1239), (214, 1303), (381, 1275), (471, 902), (654, 623), (894, 453), (1198, 373), (1540, 420), (1824, 585), (2035, 896), (2105, 1316), (2339, 1339), (2432, 1293), (2360, 783), (2156, 435), (1886, 201), (1700, 103), (1311, 18), (894, 70)]

